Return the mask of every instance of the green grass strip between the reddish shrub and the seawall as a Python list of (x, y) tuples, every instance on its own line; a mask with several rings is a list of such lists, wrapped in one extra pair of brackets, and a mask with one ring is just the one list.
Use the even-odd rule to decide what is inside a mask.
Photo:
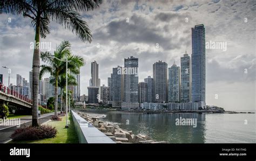
[(57, 135), (55, 138), (45, 138), (36, 141), (11, 141), (9, 143), (79, 143), (75, 126), (73, 124), (72, 115), (69, 115), (69, 128), (65, 129), (66, 116), (61, 117), (62, 121), (50, 121), (46, 124), (56, 127)]

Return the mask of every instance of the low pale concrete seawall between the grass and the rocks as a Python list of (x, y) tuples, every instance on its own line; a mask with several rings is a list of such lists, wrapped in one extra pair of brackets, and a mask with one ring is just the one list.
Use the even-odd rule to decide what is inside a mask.
[(110, 143), (114, 144), (111, 138), (99, 131), (92, 124), (84, 120), (77, 113), (71, 110), (79, 143)]

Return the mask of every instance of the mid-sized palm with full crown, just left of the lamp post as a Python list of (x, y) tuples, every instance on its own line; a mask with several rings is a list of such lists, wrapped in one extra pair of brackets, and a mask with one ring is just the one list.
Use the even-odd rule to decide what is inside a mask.
[(70, 61), (68, 63), (68, 69), (70, 73), (73, 74), (79, 74), (79, 68), (85, 65), (82, 57), (71, 54), (70, 46), (69, 41), (62, 41), (53, 54), (50, 52), (41, 52), (42, 61), (46, 62), (48, 65), (41, 65), (39, 78), (42, 78), (45, 73), (50, 73), (55, 78), (55, 116), (57, 116), (58, 110), (58, 78), (60, 75), (66, 74), (66, 62), (58, 59), (63, 59), (68, 55), (68, 61)]

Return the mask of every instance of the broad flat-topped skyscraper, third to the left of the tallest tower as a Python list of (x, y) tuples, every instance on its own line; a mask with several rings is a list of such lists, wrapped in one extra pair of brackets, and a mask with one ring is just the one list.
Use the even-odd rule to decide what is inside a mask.
[(156, 102), (167, 102), (167, 63), (158, 61), (153, 64), (154, 100)]

